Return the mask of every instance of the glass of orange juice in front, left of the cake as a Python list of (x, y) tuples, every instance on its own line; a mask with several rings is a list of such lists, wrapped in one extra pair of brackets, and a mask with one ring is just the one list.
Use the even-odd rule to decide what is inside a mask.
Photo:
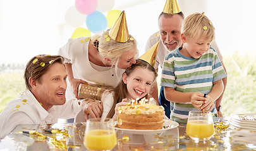
[(113, 119), (93, 118), (87, 121), (83, 145), (88, 150), (112, 150), (116, 144)]

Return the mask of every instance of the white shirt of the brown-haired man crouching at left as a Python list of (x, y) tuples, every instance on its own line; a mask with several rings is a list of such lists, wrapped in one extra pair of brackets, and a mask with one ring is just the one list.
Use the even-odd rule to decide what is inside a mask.
[(58, 118), (74, 118), (81, 109), (77, 99), (70, 99), (46, 111), (32, 92), (21, 92), (16, 99), (9, 101), (0, 114), (0, 138), (8, 135), (17, 125), (57, 123)]

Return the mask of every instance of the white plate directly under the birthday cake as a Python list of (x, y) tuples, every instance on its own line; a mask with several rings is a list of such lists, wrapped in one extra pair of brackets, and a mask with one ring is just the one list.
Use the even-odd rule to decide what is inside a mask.
[[(115, 121), (115, 125), (117, 124), (118, 121)], [(133, 134), (154, 134), (154, 133), (162, 133), (163, 131), (166, 130), (171, 130), (173, 128), (176, 128), (179, 126), (179, 123), (177, 123), (176, 121), (172, 121), (172, 120), (164, 120), (164, 125), (162, 129), (159, 130), (132, 130), (132, 129), (125, 129), (125, 128), (116, 128), (116, 130), (121, 130), (121, 131), (126, 131), (129, 133), (133, 133)]]

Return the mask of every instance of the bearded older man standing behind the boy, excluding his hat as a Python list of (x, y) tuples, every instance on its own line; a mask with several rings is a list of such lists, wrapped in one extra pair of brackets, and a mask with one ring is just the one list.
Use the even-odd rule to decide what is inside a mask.
[[(167, 0), (168, 1), (168, 0)], [(173, 0), (174, 1), (174, 0)], [(178, 4), (177, 4), (178, 6)], [(165, 6), (166, 8), (166, 6)], [(164, 8), (164, 9), (165, 9)], [(179, 8), (180, 9), (180, 8)], [(166, 55), (175, 50), (176, 48), (179, 48), (182, 46), (181, 42), (181, 26), (183, 24), (184, 20), (184, 14), (180, 11), (179, 13), (164, 13), (162, 12), (159, 15), (158, 18), (158, 26), (159, 26), (159, 31), (154, 33), (152, 36), (150, 36), (149, 40), (147, 41), (146, 47), (145, 47), (145, 52), (149, 50), (155, 43), (161, 41), (159, 43), (159, 48), (157, 52), (157, 57), (155, 60), (155, 70), (158, 72), (158, 66), (160, 65), (162, 69), (162, 64), (164, 62), (164, 58)], [(216, 50), (217, 55), (219, 56), (219, 59), (221, 60), (221, 64), (224, 67), (224, 64), (222, 62), (222, 55), (219, 52), (219, 49), (217, 48), (216, 42), (211, 43), (212, 47), (214, 50)], [(225, 67), (224, 67), (225, 69)], [(225, 69), (226, 71), (226, 69)], [(222, 79), (222, 82), (224, 84), (224, 90), (226, 88), (227, 84), (227, 77)], [(221, 96), (219, 99), (216, 100), (216, 109), (218, 116), (222, 116), (221, 113), (221, 99), (223, 96), (224, 91), (222, 92)], [(155, 84), (154, 91), (152, 92), (152, 96), (154, 99), (158, 98), (158, 88), (157, 84)], [(161, 87), (160, 90), (160, 96), (159, 96), (159, 105), (162, 105), (164, 107), (164, 110), (166, 112), (166, 116), (170, 118), (170, 113), (171, 113), (171, 103), (167, 101), (164, 97), (164, 87)]]

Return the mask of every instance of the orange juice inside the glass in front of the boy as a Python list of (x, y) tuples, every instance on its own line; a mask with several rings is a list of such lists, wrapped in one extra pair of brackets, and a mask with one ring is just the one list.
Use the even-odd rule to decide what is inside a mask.
[(186, 133), (194, 138), (210, 138), (214, 135), (214, 125), (212, 122), (204, 120), (188, 121)]

